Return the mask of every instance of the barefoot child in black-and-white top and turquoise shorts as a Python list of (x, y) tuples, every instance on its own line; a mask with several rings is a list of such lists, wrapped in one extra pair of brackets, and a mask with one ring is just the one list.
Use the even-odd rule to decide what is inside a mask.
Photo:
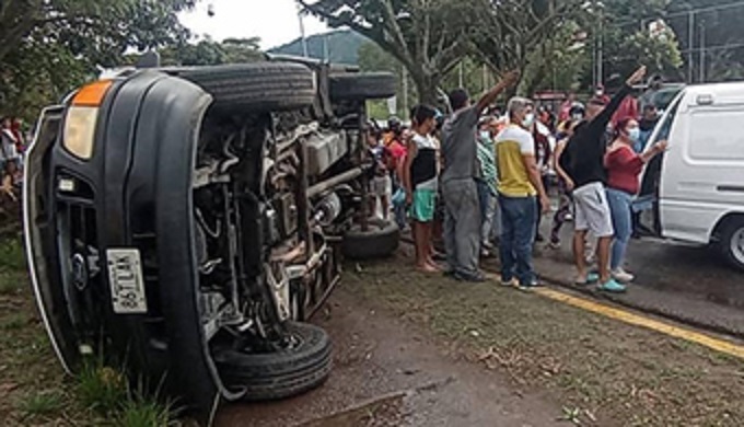
[(411, 132), (407, 138), (408, 155), (403, 169), (406, 205), (414, 221), (416, 267), (422, 272), (439, 272), (431, 251), (431, 232), (439, 187), (437, 141), (431, 132), (437, 128), (437, 109), (417, 105), (411, 109)]

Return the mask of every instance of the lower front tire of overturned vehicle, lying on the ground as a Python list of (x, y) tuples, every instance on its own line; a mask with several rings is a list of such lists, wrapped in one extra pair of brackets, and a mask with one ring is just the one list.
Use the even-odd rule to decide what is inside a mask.
[(268, 354), (225, 348), (214, 351), (223, 381), (245, 390), (245, 400), (269, 401), (291, 397), (323, 384), (332, 369), (328, 334), (307, 323), (289, 322), (295, 347)]

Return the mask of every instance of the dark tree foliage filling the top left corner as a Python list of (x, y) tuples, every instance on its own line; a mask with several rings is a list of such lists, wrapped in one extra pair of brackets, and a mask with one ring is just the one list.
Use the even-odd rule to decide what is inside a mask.
[(184, 43), (177, 12), (195, 1), (0, 1), (0, 109), (33, 118), (127, 49)]

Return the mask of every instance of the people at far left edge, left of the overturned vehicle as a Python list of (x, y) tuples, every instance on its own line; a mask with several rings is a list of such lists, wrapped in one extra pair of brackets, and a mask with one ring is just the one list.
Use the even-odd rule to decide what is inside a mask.
[(22, 154), (26, 138), (21, 120), (13, 117), (0, 118), (0, 197), (16, 200), (21, 183)]

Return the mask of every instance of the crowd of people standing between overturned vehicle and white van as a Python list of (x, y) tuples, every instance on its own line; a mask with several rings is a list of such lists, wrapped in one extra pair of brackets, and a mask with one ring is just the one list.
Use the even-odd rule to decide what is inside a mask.
[(612, 97), (603, 86), (585, 104), (570, 94), (554, 114), (520, 96), (495, 106), (519, 80), (511, 72), (475, 103), (452, 91), (447, 117), (421, 104), (409, 127), (395, 117), (385, 130), (372, 125), (373, 208), (410, 227), (419, 270), (484, 281), (480, 258), (498, 253), (500, 282), (531, 289), (540, 285), (533, 250), (546, 240), (540, 221), (556, 194), (547, 246), (560, 247), (572, 222), (576, 284), (623, 292), (633, 280), (625, 269), (628, 242), (643, 232), (639, 176), (666, 149), (665, 141), (649, 145), (654, 105), (630, 96), (644, 74), (638, 69)]

